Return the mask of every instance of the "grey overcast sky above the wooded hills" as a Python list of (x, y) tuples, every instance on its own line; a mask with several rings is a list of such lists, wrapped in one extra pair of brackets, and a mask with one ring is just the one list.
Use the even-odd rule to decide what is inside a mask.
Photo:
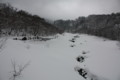
[(0, 0), (47, 19), (75, 19), (120, 12), (120, 0)]

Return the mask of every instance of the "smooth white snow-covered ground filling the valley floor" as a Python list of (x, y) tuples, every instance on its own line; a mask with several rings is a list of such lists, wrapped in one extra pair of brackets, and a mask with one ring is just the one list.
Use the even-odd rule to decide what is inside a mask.
[[(16, 80), (85, 80), (77, 71), (80, 68), (87, 72), (88, 80), (120, 80), (120, 47), (117, 43), (70, 33), (48, 41), (9, 38), (0, 52), (0, 80), (12, 79), (12, 61), (17, 68), (29, 62)], [(84, 57), (82, 62), (77, 61), (80, 56)]]

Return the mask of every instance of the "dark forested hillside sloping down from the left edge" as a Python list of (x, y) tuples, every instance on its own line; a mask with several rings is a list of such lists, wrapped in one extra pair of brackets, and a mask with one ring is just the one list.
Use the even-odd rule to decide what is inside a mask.
[(0, 35), (47, 36), (61, 32), (37, 15), (17, 10), (10, 4), (0, 3)]

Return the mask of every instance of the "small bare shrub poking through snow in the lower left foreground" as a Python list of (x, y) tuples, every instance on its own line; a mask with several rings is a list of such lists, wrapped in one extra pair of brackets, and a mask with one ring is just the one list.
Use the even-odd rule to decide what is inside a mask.
[(15, 61), (12, 60), (11, 63), (12, 63), (13, 71), (10, 80), (16, 80), (16, 78), (20, 77), (24, 69), (30, 64), (30, 62), (27, 62), (24, 65), (18, 65)]

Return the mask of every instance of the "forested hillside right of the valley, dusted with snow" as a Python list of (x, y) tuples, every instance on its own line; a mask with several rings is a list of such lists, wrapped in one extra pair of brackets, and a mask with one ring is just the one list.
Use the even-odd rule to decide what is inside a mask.
[(90, 15), (76, 20), (57, 20), (57, 27), (74, 33), (87, 33), (113, 40), (120, 40), (120, 13)]

